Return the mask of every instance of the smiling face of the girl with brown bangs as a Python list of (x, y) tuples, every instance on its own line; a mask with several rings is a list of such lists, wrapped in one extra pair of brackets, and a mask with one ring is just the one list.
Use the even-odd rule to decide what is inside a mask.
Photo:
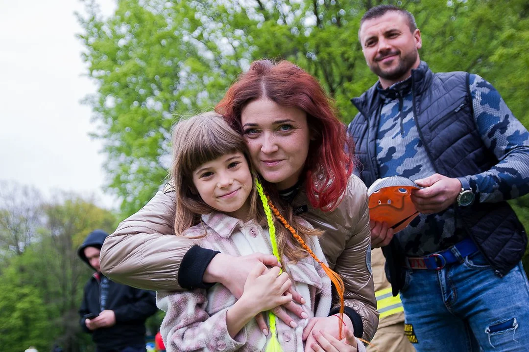
[(253, 179), (240, 151), (200, 165), (193, 172), (193, 184), (213, 209), (242, 220), (248, 216)]

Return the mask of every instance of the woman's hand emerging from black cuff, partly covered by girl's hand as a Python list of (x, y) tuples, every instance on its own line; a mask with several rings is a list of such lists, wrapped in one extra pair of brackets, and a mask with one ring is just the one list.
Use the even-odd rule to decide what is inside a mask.
[[(265, 264), (267, 267), (279, 267), (277, 258), (274, 255), (253, 253), (250, 255), (232, 256), (219, 253), (209, 262), (203, 280), (204, 282), (222, 283), (235, 298), (239, 299), (242, 296), (248, 274), (259, 264)], [(297, 304), (304, 305), (305, 299), (294, 287), (290, 287), (285, 293), (292, 295), (292, 301), (286, 305), (276, 307), (273, 312), (286, 325), (292, 326), (294, 319), (288, 315), (285, 309), (293, 312), (299, 318), (306, 319), (308, 317), (307, 313)], [(256, 320), (262, 331), (268, 331), (268, 326), (262, 313), (256, 316)]]

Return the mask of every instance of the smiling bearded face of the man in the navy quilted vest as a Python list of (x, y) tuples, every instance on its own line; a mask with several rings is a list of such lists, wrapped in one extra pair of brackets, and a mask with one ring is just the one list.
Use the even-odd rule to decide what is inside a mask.
[(399, 12), (365, 21), (360, 27), (360, 43), (383, 88), (408, 78), (421, 62), (417, 51), (422, 46), (421, 32), (416, 29), (412, 33), (406, 16)]

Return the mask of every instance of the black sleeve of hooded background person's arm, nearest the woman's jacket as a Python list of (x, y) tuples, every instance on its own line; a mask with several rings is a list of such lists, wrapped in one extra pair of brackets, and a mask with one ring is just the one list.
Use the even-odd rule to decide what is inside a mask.
[(145, 319), (156, 313), (156, 293), (154, 291), (133, 290), (135, 302), (129, 305), (120, 306), (114, 309), (116, 323), (120, 322), (143, 322)]

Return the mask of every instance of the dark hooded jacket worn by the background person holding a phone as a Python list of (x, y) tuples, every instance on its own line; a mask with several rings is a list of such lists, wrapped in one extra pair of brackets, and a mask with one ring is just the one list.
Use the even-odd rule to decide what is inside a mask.
[[(79, 258), (94, 269), (84, 253), (85, 248), (101, 249), (108, 234), (102, 230), (91, 232), (77, 250)], [(116, 324), (109, 328), (88, 330), (85, 319), (88, 315), (95, 316), (103, 310), (101, 307), (101, 283), (107, 284), (106, 310), (113, 310)], [(120, 352), (129, 346), (145, 346), (145, 319), (156, 313), (156, 299), (152, 291), (140, 290), (125, 286), (105, 278), (95, 272), (85, 285), (83, 303), (79, 309), (80, 325), (84, 331), (92, 334), (97, 351)]]

